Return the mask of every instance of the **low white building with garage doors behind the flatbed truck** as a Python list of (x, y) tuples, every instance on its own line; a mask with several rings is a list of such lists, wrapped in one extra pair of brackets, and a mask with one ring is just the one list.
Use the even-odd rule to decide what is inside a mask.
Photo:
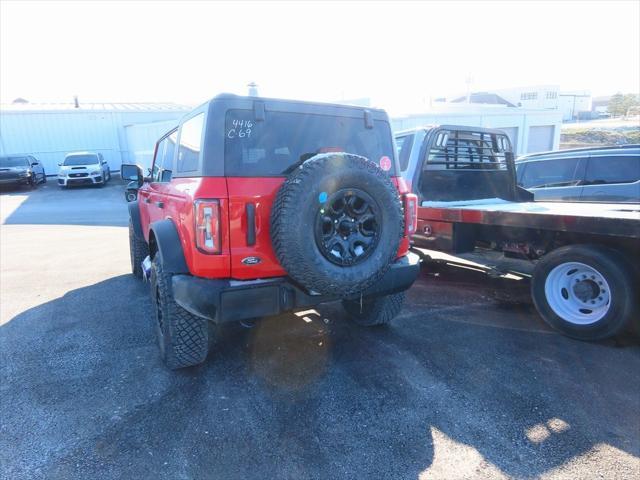
[(394, 131), (445, 124), (499, 128), (509, 136), (516, 155), (523, 155), (559, 148), (562, 113), (504, 105), (435, 103), (425, 113), (392, 118)]

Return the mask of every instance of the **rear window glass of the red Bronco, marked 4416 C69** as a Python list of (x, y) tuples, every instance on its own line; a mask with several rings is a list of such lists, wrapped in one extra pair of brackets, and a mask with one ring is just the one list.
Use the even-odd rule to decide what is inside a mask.
[[(225, 171), (229, 176), (286, 175), (318, 153), (348, 152), (394, 170), (388, 122), (366, 128), (364, 117), (349, 118), (265, 112), (256, 122), (252, 110), (229, 110), (225, 122)], [(385, 168), (386, 167), (386, 168)]]

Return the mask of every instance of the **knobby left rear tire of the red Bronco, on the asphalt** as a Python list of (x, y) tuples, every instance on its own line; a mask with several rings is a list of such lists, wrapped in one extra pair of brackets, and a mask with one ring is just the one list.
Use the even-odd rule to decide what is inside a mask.
[(205, 361), (209, 350), (209, 325), (178, 305), (171, 292), (171, 274), (164, 273), (160, 255), (151, 262), (153, 324), (160, 356), (171, 370)]

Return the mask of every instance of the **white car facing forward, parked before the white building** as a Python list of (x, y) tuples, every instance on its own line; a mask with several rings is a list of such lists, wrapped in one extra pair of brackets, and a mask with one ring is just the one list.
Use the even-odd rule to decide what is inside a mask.
[(105, 185), (111, 180), (109, 164), (101, 153), (75, 152), (64, 157), (58, 172), (58, 185)]

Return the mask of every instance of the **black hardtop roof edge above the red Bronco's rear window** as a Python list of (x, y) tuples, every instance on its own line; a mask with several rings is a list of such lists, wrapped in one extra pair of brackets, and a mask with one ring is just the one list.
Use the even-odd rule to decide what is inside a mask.
[(250, 109), (255, 103), (262, 103), (265, 110), (291, 111), (294, 113), (316, 113), (326, 115), (364, 116), (366, 112), (374, 120), (389, 121), (387, 112), (379, 108), (360, 107), (356, 105), (344, 105), (338, 103), (310, 102), (305, 100), (287, 100), (282, 98), (249, 97), (234, 95), (231, 93), (221, 93), (212, 99), (194, 108), (185, 118), (191, 117), (196, 111), (211, 108), (215, 105), (224, 105), (228, 109)]

